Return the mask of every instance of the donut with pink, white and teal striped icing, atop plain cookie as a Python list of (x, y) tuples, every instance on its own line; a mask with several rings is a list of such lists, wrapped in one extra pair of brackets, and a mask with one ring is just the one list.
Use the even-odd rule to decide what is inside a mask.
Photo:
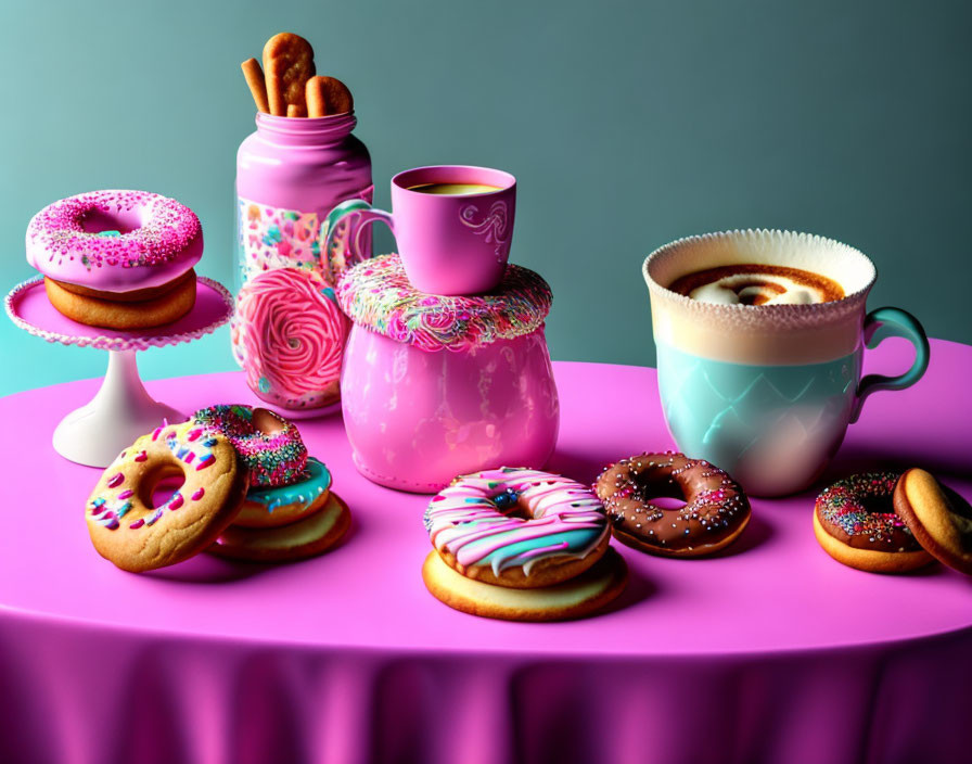
[(579, 575), (611, 537), (604, 507), (587, 486), (511, 467), (457, 478), (430, 501), (425, 529), (450, 568), (512, 588)]

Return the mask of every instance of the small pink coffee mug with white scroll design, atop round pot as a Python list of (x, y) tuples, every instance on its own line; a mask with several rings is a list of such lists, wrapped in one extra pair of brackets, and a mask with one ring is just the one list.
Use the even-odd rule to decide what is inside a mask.
[[(476, 189), (475, 187), (488, 187)], [(358, 215), (349, 262), (357, 256), (366, 224), (383, 220), (398, 243), (408, 280), (420, 292), (479, 294), (499, 284), (510, 257), (516, 178), (488, 167), (417, 167), (392, 178), (394, 214), (349, 200), (328, 216), (322, 256), (338, 245), (333, 232), (346, 215)]]

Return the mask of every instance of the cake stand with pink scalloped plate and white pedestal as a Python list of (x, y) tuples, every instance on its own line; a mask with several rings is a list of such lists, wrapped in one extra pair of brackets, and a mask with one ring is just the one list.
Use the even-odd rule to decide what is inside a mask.
[(163, 419), (181, 422), (187, 418), (149, 395), (139, 378), (136, 353), (212, 333), (229, 320), (233, 297), (222, 284), (199, 277), (195, 306), (186, 316), (164, 327), (126, 332), (88, 327), (62, 316), (48, 300), (43, 277), (15, 286), (7, 295), (5, 307), (21, 329), (48, 342), (108, 352), (108, 369), (98, 394), (64, 417), (53, 435), (54, 450), (65, 459), (107, 467), (123, 448)]

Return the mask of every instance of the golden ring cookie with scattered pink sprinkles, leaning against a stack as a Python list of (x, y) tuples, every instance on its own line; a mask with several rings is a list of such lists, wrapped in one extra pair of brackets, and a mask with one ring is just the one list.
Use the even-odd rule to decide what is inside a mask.
[[(178, 488), (157, 491), (172, 479), (182, 480)], [(85, 519), (98, 553), (138, 573), (207, 548), (248, 488), (250, 468), (229, 440), (190, 419), (158, 426), (122, 451), (88, 497)]]

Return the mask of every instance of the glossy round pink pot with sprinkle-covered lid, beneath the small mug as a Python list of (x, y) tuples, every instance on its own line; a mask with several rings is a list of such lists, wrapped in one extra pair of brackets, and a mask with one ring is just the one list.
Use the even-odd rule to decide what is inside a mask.
[(341, 402), (361, 474), (434, 493), (459, 474), (550, 458), (560, 404), (538, 275), (510, 265), (494, 292), (446, 297), (417, 291), (385, 255), (349, 270), (337, 298), (354, 321)]

